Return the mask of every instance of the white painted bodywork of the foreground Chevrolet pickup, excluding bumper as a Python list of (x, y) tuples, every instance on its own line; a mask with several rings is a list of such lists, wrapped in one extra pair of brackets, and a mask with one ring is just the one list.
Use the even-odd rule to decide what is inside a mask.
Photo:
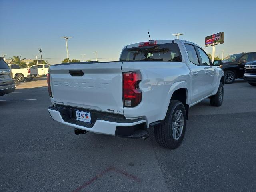
[[(172, 40), (157, 40), (157, 44), (171, 42)], [(104, 112), (110, 112), (107, 109), (120, 110), (127, 119), (143, 117), (149, 126), (150, 123), (165, 118), (172, 94), (180, 88), (186, 89), (186, 104), (189, 106), (216, 94), (220, 79), (224, 76), (223, 70), (216, 66), (191, 63), (184, 43), (198, 45), (184, 40), (174, 42), (180, 48), (182, 62), (134, 61), (51, 66), (51, 101)], [(134, 46), (138, 46), (138, 43), (127, 47)], [(69, 70), (82, 70), (85, 75), (72, 77)], [(142, 101), (133, 108), (123, 108), (122, 102), (122, 72), (128, 71), (140, 71), (142, 74)], [(84, 86), (78, 82), (84, 82)], [(97, 89), (97, 83), (105, 83), (105, 86)], [(97, 133), (108, 132), (104, 124), (100, 125), (105, 126), (103, 130), (98, 125), (94, 125)], [(113, 131), (112, 126), (109, 129), (110, 132)]]

